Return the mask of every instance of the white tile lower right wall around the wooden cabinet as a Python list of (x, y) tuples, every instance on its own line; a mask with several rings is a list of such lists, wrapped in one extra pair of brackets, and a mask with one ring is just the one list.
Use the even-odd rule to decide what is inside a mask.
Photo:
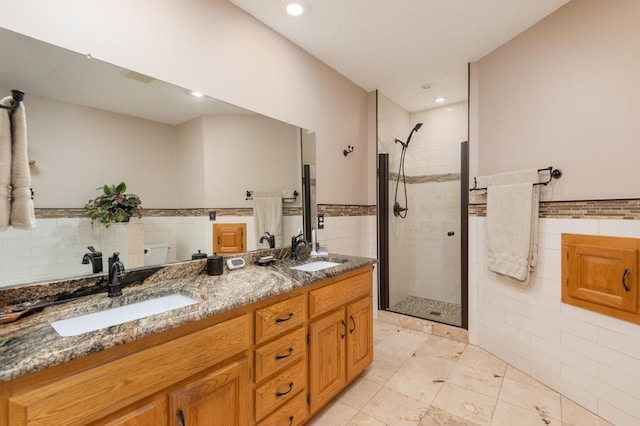
[(540, 264), (519, 287), (486, 266), (469, 218), (469, 341), (619, 426), (640, 424), (640, 326), (560, 302), (561, 233), (640, 236), (640, 221), (540, 220)]

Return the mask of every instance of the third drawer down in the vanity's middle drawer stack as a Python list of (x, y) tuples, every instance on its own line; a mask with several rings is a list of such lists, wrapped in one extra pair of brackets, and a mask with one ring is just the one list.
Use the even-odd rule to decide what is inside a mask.
[(300, 361), (256, 388), (256, 420), (291, 400), (306, 388), (306, 369)]

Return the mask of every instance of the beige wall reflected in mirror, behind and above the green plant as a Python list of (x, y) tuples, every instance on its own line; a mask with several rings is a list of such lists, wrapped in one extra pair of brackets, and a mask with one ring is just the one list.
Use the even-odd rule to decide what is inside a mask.
[(121, 181), (143, 207), (176, 207), (175, 127), (35, 95), (25, 105), (36, 207), (81, 208)]

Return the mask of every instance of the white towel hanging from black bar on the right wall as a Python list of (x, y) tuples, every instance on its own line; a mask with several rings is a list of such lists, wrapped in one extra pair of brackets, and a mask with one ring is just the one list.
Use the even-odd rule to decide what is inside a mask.
[(529, 284), (538, 261), (540, 191), (537, 169), (490, 177), (487, 190), (487, 265)]

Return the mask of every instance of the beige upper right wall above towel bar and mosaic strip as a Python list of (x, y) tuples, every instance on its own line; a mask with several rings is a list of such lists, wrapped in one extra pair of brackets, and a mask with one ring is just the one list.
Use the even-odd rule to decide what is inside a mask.
[(543, 199), (640, 196), (639, 17), (637, 0), (572, 1), (482, 58), (476, 172), (554, 166)]

